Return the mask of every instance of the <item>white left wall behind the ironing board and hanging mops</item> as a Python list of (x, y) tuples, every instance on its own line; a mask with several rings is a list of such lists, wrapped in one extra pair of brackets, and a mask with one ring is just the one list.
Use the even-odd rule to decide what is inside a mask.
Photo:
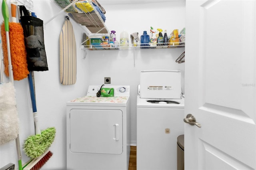
[[(10, 1), (7, 1), (8, 4)], [(1, 1), (2, 4), (2, 1)], [(33, 12), (38, 18), (46, 22), (60, 11), (49, 0), (34, 0)], [(44, 165), (45, 169), (66, 168), (66, 101), (86, 94), (89, 84), (88, 67), (86, 60), (82, 59), (83, 51), (77, 45), (77, 81), (74, 85), (64, 86), (60, 84), (59, 71), (59, 35), (65, 20), (65, 14), (60, 14), (44, 27), (44, 43), (46, 48), (49, 71), (34, 72), (36, 104), (39, 116), (40, 128), (56, 128), (56, 138), (50, 147), (54, 153), (52, 158)], [(2, 19), (1, 19), (2, 22)], [(82, 41), (82, 29), (71, 20), (74, 25), (77, 44)], [(6, 82), (8, 79), (5, 79)], [(28, 88), (28, 80), (15, 81), (16, 102), (18, 116), (20, 118), (20, 145), (24, 140), (34, 134), (32, 106)], [(22, 152), (22, 163), (29, 158)], [(0, 145), (0, 167), (8, 163), (17, 162), (15, 141)]]

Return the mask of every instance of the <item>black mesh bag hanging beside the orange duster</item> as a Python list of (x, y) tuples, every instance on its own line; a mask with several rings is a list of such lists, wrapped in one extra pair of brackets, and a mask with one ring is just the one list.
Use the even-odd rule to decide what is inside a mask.
[(48, 70), (44, 47), (43, 21), (33, 16), (21, 16), (29, 71)]

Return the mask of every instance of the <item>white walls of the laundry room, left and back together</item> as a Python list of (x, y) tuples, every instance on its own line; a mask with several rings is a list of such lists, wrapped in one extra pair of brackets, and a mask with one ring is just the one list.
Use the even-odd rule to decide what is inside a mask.
[[(102, 0), (98, 1), (102, 2)], [(173, 29), (181, 30), (185, 27), (185, 1), (125, 5), (108, 5), (105, 3), (102, 3), (102, 6), (106, 10), (106, 26), (109, 30), (116, 30), (117, 38), (124, 29), (129, 34), (139, 32), (141, 35), (144, 30), (147, 30), (149, 34), (150, 26), (155, 30), (156, 28), (166, 29), (168, 34)], [(49, 0), (34, 0), (32, 12), (36, 12), (37, 17), (44, 22), (59, 11), (60, 9)], [(50, 147), (54, 155), (42, 169), (66, 168), (66, 101), (86, 95), (89, 84), (101, 85), (104, 83), (104, 77), (111, 77), (111, 85), (130, 85), (131, 142), (136, 144), (136, 95), (140, 70), (181, 70), (182, 83), (184, 80), (184, 63), (175, 63), (184, 48), (88, 51), (86, 59), (83, 59), (83, 51), (79, 47), (82, 42), (83, 30), (71, 19), (77, 42), (77, 81), (75, 85), (61, 85), (59, 81), (58, 41), (64, 16), (64, 13), (60, 14), (44, 27), (44, 43), (49, 71), (35, 72), (40, 128), (55, 127), (57, 131), (56, 138)], [(8, 79), (5, 78), (5, 81), (7, 82)], [(20, 143), (22, 146), (24, 140), (34, 133), (28, 80), (15, 81), (14, 86), (20, 118)], [(24, 163), (28, 159), (22, 152), (22, 162)], [(0, 167), (10, 162), (15, 164), (17, 162), (15, 141), (0, 145)]]

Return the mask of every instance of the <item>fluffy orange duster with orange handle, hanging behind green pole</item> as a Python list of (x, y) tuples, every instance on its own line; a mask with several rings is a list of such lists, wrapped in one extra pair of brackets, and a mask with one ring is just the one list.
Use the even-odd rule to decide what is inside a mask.
[[(12, 22), (9, 23), (10, 51), (12, 58), (12, 70), (14, 80), (22, 80), (28, 77), (27, 53), (24, 42), (23, 28), (20, 23), (16, 23), (16, 4), (11, 4)], [(8, 72), (8, 51), (6, 44), (6, 33), (4, 23), (1, 25), (2, 48), (4, 53), (4, 73), (9, 76)]]

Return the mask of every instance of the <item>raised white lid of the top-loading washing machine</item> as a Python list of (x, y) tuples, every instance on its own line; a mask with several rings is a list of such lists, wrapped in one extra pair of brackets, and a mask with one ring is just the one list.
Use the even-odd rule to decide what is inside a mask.
[(142, 70), (140, 98), (181, 99), (181, 71)]

